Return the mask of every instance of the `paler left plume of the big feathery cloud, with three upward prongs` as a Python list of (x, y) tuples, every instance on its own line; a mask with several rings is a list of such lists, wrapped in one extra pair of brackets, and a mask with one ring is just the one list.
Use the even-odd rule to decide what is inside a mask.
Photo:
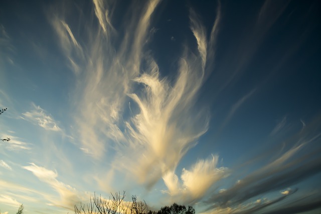
[[(120, 123), (127, 93), (131, 90), (132, 79), (139, 74), (142, 48), (149, 31), (151, 15), (159, 1), (150, 1), (132, 14), (125, 26), (125, 36), (120, 48), (115, 51), (115, 29), (111, 24), (112, 4), (93, 1), (99, 28), (90, 22), (82, 23), (88, 40), (77, 41), (64, 14), (55, 12), (51, 19), (66, 60), (77, 75), (75, 89), (75, 121), (77, 140), (81, 148), (94, 157), (101, 157), (112, 142), (124, 140), (123, 124)], [(59, 11), (59, 10), (57, 10)], [(102, 29), (100, 31), (99, 29)], [(83, 35), (82, 35), (83, 36)], [(82, 37), (83, 38), (83, 37)], [(80, 45), (82, 44), (82, 45)], [(82, 50), (86, 50), (84, 54)], [(106, 140), (107, 139), (107, 140)]]

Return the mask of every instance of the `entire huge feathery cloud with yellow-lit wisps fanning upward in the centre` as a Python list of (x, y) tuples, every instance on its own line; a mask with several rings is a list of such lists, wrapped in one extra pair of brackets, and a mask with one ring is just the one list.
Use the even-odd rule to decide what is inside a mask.
[[(135, 175), (140, 183), (150, 187), (167, 173), (175, 172), (181, 158), (208, 129), (209, 117), (203, 109), (195, 110), (195, 100), (204, 82), (206, 63), (213, 61), (207, 52), (211, 46), (213, 56), (220, 17), (208, 41), (205, 27), (191, 10), (191, 31), (198, 54), (186, 47), (176, 79), (169, 80), (159, 75), (150, 51), (145, 51), (159, 1), (148, 1), (144, 7), (128, 12), (130, 20), (125, 22), (123, 35), (112, 27), (110, 6), (101, 1), (93, 4), (99, 25), (85, 23), (91, 29), (88, 38), (93, 39), (77, 41), (63, 15), (55, 15), (61, 21), (53, 26), (60, 41), (67, 44), (64, 48), (78, 50), (78, 56), (85, 57), (82, 63), (73, 65), (77, 70), (84, 68), (76, 72), (81, 84), (75, 90), (80, 147), (96, 158), (103, 157), (108, 150), (116, 151), (113, 168)], [(119, 47), (115, 47), (116, 41), (120, 41)], [(80, 50), (85, 49), (89, 51), (81, 55)], [(77, 55), (71, 56), (68, 51), (65, 54), (72, 62), (80, 62)], [(202, 163), (206, 168), (207, 162), (198, 164)], [(199, 193), (196, 195), (199, 197)]]

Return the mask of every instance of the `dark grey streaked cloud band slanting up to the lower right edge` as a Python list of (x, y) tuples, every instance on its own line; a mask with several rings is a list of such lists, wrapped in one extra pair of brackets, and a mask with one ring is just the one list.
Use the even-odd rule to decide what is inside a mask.
[[(300, 131), (298, 135), (290, 138), (294, 144), (291, 148), (272, 158), (266, 165), (247, 174), (230, 188), (213, 193), (206, 202), (211, 204), (207, 210), (212, 210), (215, 213), (215, 210), (221, 208), (225, 210), (230, 207), (231, 209), (227, 213), (252, 213), (294, 194), (297, 189), (292, 190), (287, 188), (288, 186), (296, 184), (300, 180), (313, 176), (320, 171), (319, 164), (321, 159), (316, 155), (317, 152), (303, 149), (306, 149), (308, 144), (319, 142), (320, 134), (315, 134), (314, 132), (314, 127), (305, 133)], [(287, 189), (284, 190), (284, 188)], [(243, 207), (246, 201), (275, 190), (280, 191), (282, 196), (260, 203), (260, 205), (250, 206), (250, 208)], [(243, 208), (236, 211), (238, 207)]]

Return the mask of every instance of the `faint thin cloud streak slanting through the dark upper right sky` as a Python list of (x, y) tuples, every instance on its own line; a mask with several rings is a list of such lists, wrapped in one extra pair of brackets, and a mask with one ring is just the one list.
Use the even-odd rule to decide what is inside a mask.
[[(221, 67), (221, 69), (224, 69), (222, 72), (224, 72), (226, 76), (223, 76), (223, 78), (217, 76), (217, 85), (219, 86), (219, 89), (216, 91), (216, 94), (221, 93), (228, 86), (237, 82), (237, 78), (240, 77), (242, 73), (247, 72), (246, 68), (254, 59), (258, 47), (260, 47), (267, 36), (267, 32), (281, 17), (289, 3), (290, 1), (264, 1), (257, 18), (254, 18), (253, 24), (239, 20), (243, 23), (242, 29), (249, 29), (249, 31), (240, 31), (239, 36), (235, 41), (231, 41), (230, 47), (232, 48), (227, 48), (229, 57), (228, 60), (223, 62), (224, 65)], [(218, 5), (220, 8), (221, 3), (218, 2)], [(221, 13), (218, 13), (218, 15), (221, 17)], [(293, 49), (284, 54), (284, 59), (287, 59), (292, 54)], [(284, 61), (282, 60), (281, 64), (283, 63)], [(280, 68), (279, 65), (276, 67)], [(222, 75), (222, 73), (219, 74)]]

